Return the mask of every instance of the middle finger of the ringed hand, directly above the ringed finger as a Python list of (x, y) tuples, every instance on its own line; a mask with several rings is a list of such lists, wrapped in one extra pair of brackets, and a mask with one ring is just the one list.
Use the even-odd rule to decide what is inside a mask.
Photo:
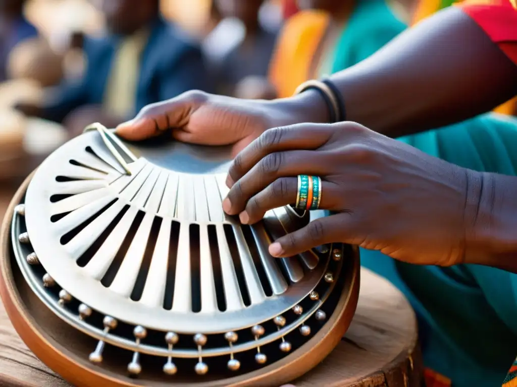
[(235, 183), (226, 199), (223, 209), (229, 215), (239, 214), (248, 200), (278, 178), (299, 174), (325, 175), (329, 165), (322, 152), (287, 151), (271, 153), (258, 162)]

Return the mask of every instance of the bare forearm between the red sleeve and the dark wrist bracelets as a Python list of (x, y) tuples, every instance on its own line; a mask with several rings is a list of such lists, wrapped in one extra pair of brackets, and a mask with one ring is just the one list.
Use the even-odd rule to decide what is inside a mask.
[[(358, 65), (334, 74), (346, 119), (390, 137), (476, 116), (517, 93), (517, 66), (462, 10), (418, 24)], [(300, 119), (320, 122), (318, 95)]]

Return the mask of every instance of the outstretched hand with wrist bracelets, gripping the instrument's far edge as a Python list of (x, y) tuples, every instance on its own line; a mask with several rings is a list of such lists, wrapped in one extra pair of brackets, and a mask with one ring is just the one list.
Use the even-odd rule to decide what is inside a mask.
[[(323, 106), (322, 106), (323, 104)], [(234, 145), (234, 154), (270, 127), (298, 122), (323, 122), (326, 108), (317, 92), (275, 101), (239, 100), (189, 91), (142, 109), (117, 134), (139, 141), (172, 129), (179, 141), (204, 145)]]

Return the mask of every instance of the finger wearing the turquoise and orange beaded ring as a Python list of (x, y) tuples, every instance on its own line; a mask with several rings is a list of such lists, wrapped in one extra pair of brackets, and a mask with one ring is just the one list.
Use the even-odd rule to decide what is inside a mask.
[[(336, 188), (335, 184), (322, 181), (318, 208), (330, 210), (336, 208)], [(240, 221), (244, 224), (256, 223), (264, 218), (264, 214), (270, 209), (295, 204), (297, 196), (297, 178), (277, 179), (248, 200), (245, 210), (239, 214)]]

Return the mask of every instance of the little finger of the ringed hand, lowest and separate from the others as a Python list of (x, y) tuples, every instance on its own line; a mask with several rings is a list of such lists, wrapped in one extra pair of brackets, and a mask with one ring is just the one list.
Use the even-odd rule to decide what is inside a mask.
[(269, 246), (269, 253), (276, 257), (293, 256), (316, 246), (344, 242), (351, 217), (349, 213), (340, 213), (313, 220), (306, 227), (278, 238)]

